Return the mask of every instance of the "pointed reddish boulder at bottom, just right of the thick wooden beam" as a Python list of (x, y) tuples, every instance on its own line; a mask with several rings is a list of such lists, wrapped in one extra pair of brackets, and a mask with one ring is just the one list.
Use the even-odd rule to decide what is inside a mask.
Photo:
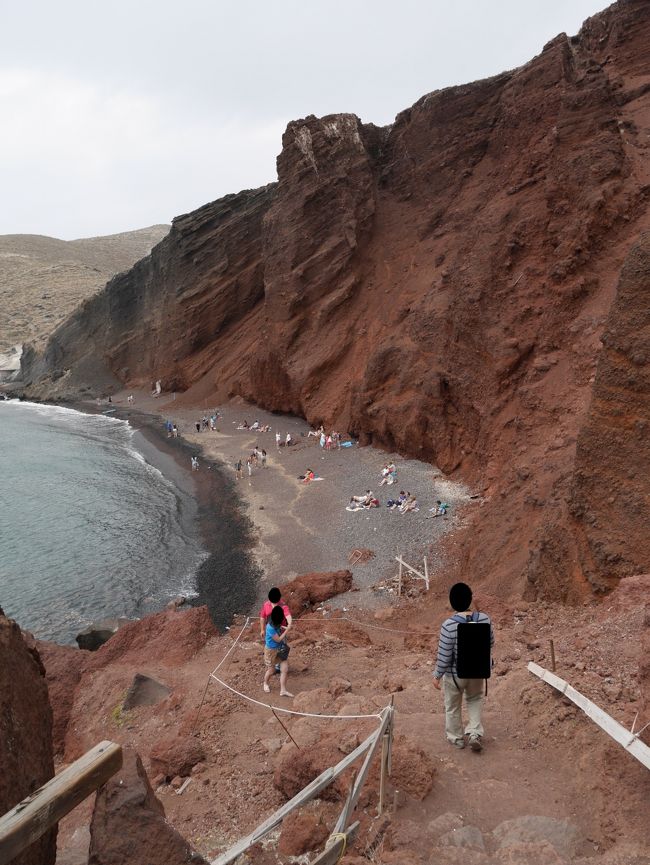
[(205, 860), (167, 823), (140, 757), (125, 750), (122, 768), (97, 793), (88, 865), (189, 862), (201, 865)]

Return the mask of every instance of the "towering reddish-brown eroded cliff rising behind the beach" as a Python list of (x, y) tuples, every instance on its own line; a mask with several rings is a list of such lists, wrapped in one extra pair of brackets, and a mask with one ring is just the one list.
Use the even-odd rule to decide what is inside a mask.
[(612, 450), (582, 451), (607, 413), (619, 273), (650, 228), (648, 44), (649, 4), (621, 0), (391, 127), (290, 123), (277, 185), (175, 220), (28, 359), (31, 392), (160, 378), (187, 401), (242, 395), (347, 428), (484, 493), (463, 548), (476, 577), (609, 586), (640, 563), (594, 553), (581, 478), (597, 484)]

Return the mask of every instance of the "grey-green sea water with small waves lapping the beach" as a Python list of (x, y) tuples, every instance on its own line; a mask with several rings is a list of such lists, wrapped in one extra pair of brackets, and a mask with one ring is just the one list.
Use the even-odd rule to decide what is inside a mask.
[(194, 591), (196, 505), (135, 436), (110, 415), (0, 402), (0, 607), (37, 637), (70, 643)]

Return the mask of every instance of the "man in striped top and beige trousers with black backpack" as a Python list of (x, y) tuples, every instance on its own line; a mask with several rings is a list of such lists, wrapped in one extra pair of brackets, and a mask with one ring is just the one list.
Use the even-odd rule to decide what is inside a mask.
[[(472, 751), (483, 750), (483, 689), (492, 671), (491, 649), (494, 633), (490, 617), (478, 610), (472, 612), (472, 590), (456, 583), (449, 591), (449, 603), (455, 614), (440, 626), (438, 659), (433, 684), (445, 695), (445, 733), (457, 748), (465, 747), (465, 735)], [(461, 707), (465, 694), (468, 722), (463, 735)]]

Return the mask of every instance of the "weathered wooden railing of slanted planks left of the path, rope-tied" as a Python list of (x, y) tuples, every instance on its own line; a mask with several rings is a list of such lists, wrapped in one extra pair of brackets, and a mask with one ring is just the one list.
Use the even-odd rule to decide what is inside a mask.
[(323, 850), (323, 852), (312, 861), (311, 865), (334, 865), (334, 863), (338, 862), (342, 851), (345, 849), (348, 842), (354, 840), (359, 828), (358, 823), (354, 823), (348, 827), (348, 821), (359, 800), (359, 795), (366, 778), (368, 777), (368, 771), (380, 744), (382, 745), (382, 764), (379, 813), (382, 812), (382, 799), (386, 783), (385, 776), (390, 772), (393, 723), (394, 708), (391, 704), (382, 711), (381, 722), (377, 729), (360, 745), (358, 745), (354, 751), (351, 751), (347, 757), (344, 757), (335, 766), (330, 766), (328, 769), (325, 769), (324, 772), (321, 772), (317, 778), (314, 778), (310, 784), (300, 790), (299, 793), (296, 793), (292, 799), (289, 799), (289, 801), (281, 808), (278, 808), (278, 810), (271, 814), (271, 816), (263, 823), (260, 823), (256, 829), (244, 838), (240, 838), (236, 844), (233, 844), (232, 847), (223, 852), (220, 856), (217, 856), (216, 859), (213, 859), (211, 865), (230, 865), (230, 863), (234, 862), (242, 853), (245, 853), (249, 847), (252, 847), (253, 844), (256, 844), (264, 838), (265, 835), (268, 835), (268, 833), (275, 829), (276, 826), (279, 826), (284, 818), (291, 814), (292, 811), (295, 811), (296, 808), (299, 808), (301, 805), (305, 805), (311, 799), (314, 799), (322, 790), (328, 787), (332, 781), (338, 778), (338, 776), (345, 772), (346, 769), (349, 769), (352, 764), (359, 759), (359, 757), (365, 754), (366, 757), (363, 761), (363, 765), (352, 779), (343, 811), (336, 822), (334, 831), (330, 835), (328, 844), (326, 845), (325, 850)]

